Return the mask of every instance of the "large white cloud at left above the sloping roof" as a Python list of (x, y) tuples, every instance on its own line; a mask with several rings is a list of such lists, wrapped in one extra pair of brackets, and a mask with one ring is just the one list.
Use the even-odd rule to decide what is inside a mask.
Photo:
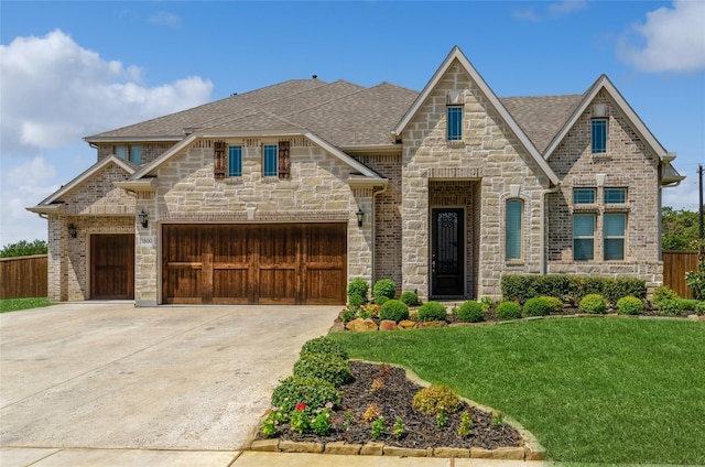
[(213, 90), (197, 76), (147, 87), (139, 67), (105, 61), (59, 30), (17, 37), (0, 55), (3, 153), (67, 145), (204, 104)]

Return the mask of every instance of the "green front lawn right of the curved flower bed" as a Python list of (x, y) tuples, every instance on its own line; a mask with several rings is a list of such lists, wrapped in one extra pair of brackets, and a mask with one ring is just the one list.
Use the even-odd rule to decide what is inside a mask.
[(336, 333), (518, 420), (553, 460), (705, 464), (705, 323), (564, 318)]

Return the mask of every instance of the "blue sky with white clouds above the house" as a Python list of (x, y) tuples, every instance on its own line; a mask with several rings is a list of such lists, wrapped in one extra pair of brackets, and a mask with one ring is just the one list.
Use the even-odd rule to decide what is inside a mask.
[(606, 74), (687, 178), (705, 165), (705, 0), (0, 1), (0, 246), (97, 160), (83, 138), (317, 75), (421, 90), (454, 45), (499, 97)]

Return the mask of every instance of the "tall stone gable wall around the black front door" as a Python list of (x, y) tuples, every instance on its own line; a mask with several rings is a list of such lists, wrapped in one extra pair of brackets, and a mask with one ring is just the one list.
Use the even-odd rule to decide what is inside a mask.
[[(446, 141), (446, 93), (465, 90), (463, 141)], [(429, 287), (429, 183), (431, 180), (480, 181), (474, 239), (477, 248), (476, 295), (501, 296), (502, 273), (541, 271), (541, 206), (549, 180), (490, 108), (486, 96), (455, 62), (403, 133), (402, 259), (403, 290)], [(512, 192), (524, 200), (522, 261), (505, 261), (505, 202)]]

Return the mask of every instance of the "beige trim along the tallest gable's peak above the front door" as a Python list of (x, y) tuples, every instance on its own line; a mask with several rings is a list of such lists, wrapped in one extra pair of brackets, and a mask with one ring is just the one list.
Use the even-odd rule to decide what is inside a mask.
[(448, 68), (453, 65), (454, 62), (458, 62), (464, 70), (468, 74), (470, 79), (475, 82), (475, 85), (479, 88), (479, 90), (486, 96), (490, 106), (495, 108), (497, 113), (499, 113), (500, 118), (507, 123), (509, 129), (514, 133), (514, 135), (519, 139), (520, 143), (524, 146), (524, 149), (529, 152), (531, 158), (534, 160), (536, 165), (543, 171), (543, 173), (549, 177), (549, 180), (553, 184), (558, 183), (558, 177), (553, 172), (553, 170), (549, 166), (546, 161), (541, 156), (533, 142), (529, 139), (527, 133), (521, 129), (521, 127), (517, 123), (514, 118), (509, 113), (507, 108), (502, 105), (500, 99), (495, 95), (492, 89), (487, 85), (485, 79), (480, 76), (480, 74), (475, 69), (475, 67), (467, 59), (465, 54), (460, 51), (460, 48), (456, 45), (453, 47), (448, 56), (441, 64), (436, 73), (433, 75), (431, 80), (423, 88), (416, 100), (411, 105), (406, 113), (402, 117), (402, 119), (397, 124), (392, 135), (398, 138), (404, 131), (406, 126), (411, 122), (411, 120), (416, 116), (416, 113), (421, 110), (421, 107), (426, 101), (426, 99), (431, 96), (431, 93), (438, 86), (440, 82), (443, 79), (443, 76), (446, 74)]

